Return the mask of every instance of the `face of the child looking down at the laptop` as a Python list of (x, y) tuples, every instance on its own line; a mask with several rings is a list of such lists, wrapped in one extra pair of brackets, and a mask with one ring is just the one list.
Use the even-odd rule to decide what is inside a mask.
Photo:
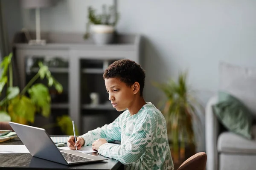
[(124, 111), (131, 106), (134, 99), (133, 86), (129, 87), (117, 78), (105, 79), (105, 86), (113, 108)]

